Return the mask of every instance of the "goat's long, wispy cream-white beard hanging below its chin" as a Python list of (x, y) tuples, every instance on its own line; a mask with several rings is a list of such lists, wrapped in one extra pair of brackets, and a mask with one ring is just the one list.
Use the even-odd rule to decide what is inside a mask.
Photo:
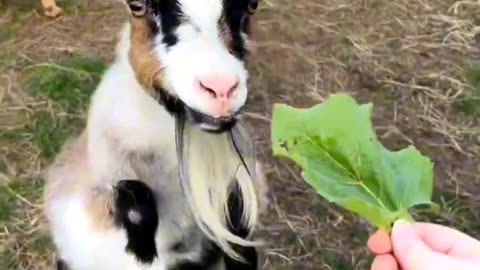
[[(252, 246), (228, 229), (228, 199), (237, 187), (243, 208), (242, 225), (257, 222), (258, 201), (253, 185), (255, 152), (243, 128), (212, 134), (191, 125), (181, 115), (176, 122), (176, 146), (180, 180), (197, 224), (228, 255), (241, 260), (230, 243)], [(236, 225), (238, 226), (238, 224)]]

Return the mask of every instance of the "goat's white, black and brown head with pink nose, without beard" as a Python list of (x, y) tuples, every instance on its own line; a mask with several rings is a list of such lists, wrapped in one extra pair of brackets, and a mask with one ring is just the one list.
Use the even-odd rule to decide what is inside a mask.
[(245, 60), (258, 0), (126, 0), (130, 64), (174, 114), (228, 130), (247, 100)]

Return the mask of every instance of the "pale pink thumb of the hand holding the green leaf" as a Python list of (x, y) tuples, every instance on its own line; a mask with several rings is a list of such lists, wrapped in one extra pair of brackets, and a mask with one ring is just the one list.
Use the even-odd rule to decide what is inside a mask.
[(397, 221), (393, 226), (392, 245), (395, 258), (404, 270), (474, 269), (466, 261), (432, 250), (422, 240), (414, 225), (403, 220)]

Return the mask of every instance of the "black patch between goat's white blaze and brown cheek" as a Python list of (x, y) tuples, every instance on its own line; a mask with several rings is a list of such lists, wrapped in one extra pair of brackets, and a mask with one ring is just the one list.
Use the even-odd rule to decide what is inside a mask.
[(182, 21), (182, 10), (177, 0), (147, 0), (149, 9), (155, 19), (160, 21), (160, 30), (163, 34), (162, 42), (168, 47), (178, 42), (175, 29)]

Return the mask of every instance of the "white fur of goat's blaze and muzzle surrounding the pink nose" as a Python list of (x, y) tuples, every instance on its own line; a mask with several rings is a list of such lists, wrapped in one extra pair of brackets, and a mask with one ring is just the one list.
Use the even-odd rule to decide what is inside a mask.
[(165, 68), (167, 87), (190, 107), (208, 114), (208, 105), (192, 93), (195, 79), (208, 74), (233, 74), (239, 85), (232, 111), (238, 110), (247, 99), (248, 73), (244, 63), (228, 52), (219, 35), (222, 1), (179, 0), (179, 3), (190, 22), (181, 24), (176, 30), (179, 41), (175, 46), (167, 50), (160, 34), (155, 48)]

